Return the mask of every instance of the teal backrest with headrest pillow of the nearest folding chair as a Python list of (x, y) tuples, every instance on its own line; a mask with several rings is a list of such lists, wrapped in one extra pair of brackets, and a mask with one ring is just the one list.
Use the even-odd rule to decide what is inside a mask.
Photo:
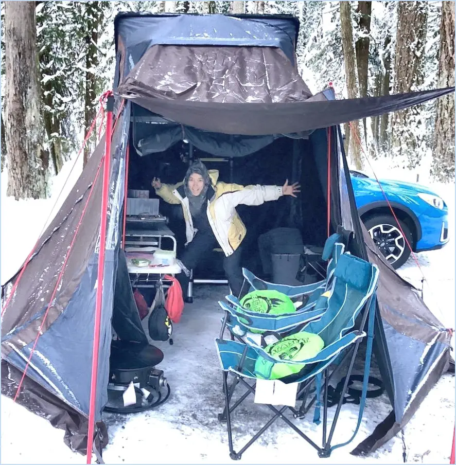
[(331, 344), (355, 326), (364, 303), (377, 287), (378, 267), (353, 255), (341, 255), (334, 270), (328, 309), (305, 331), (319, 334), (325, 345)]

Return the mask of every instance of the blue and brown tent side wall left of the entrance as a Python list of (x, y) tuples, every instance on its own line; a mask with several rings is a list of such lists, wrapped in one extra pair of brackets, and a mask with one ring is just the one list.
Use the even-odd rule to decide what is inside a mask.
[[(125, 177), (125, 120), (128, 122), (128, 114), (127, 110), (119, 116), (112, 137), (112, 200), (116, 199), (119, 187), (123, 189), (124, 185), (118, 182), (118, 177), (122, 164)], [(41, 386), (82, 417), (89, 414), (104, 145), (103, 136), (61, 209), (44, 231), (2, 320), (2, 360), (23, 371), (40, 333), (27, 377), (37, 383), (34, 390)], [(115, 245), (120, 231), (119, 214), (117, 198), (111, 202), (108, 212), (108, 224), (111, 224), (108, 238), (111, 237), (111, 241), (107, 241), (103, 289), (112, 291), (104, 293), (101, 312), (96, 421), (100, 421), (101, 410), (107, 402), (112, 299), (119, 255), (118, 245)], [(111, 246), (113, 241), (114, 248)], [(18, 278), (19, 273), (6, 283), (4, 303)], [(144, 331), (142, 336), (144, 340)], [(23, 389), (26, 391), (27, 387)], [(25, 394), (25, 398), (30, 395), (31, 392)], [(26, 406), (37, 411), (45, 408), (36, 401)], [(56, 406), (58, 409), (61, 407)], [(83, 427), (86, 422), (81, 420), (79, 424)], [(100, 434), (103, 427), (98, 430)], [(82, 446), (85, 448), (85, 444), (81, 443)]]

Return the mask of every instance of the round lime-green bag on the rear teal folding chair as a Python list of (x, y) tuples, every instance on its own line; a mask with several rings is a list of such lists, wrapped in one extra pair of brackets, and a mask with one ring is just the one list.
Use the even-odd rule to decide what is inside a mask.
[[(252, 291), (246, 294), (240, 300), (242, 307), (238, 308), (240, 313), (243, 313), (245, 310), (250, 312), (258, 313), (267, 313), (270, 315), (285, 315), (288, 313), (294, 313), (296, 308), (294, 303), (287, 295), (282, 292), (274, 290), (264, 290), (264, 291)], [(247, 324), (247, 320), (243, 321), (242, 318), (239, 318), (239, 321)], [(245, 330), (245, 328), (242, 328)], [(261, 330), (250, 330), (253, 333), (262, 333)]]

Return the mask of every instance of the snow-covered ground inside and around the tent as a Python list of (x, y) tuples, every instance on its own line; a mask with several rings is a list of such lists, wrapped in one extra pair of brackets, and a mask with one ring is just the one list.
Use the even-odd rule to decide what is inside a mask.
[[(381, 177), (416, 180), (416, 173), (385, 163), (374, 163)], [(66, 165), (54, 185), (61, 189), (71, 167)], [(76, 166), (74, 172), (80, 170)], [(74, 183), (75, 176), (64, 192)], [(454, 327), (454, 184), (420, 183), (441, 194), (450, 211), (450, 243), (440, 251), (417, 255), (426, 277), (424, 298), (427, 305), (448, 327)], [(6, 197), (6, 172), (2, 174), (2, 268), (1, 280), (8, 279), (27, 257), (49, 216), (54, 199), (19, 201)], [(56, 207), (58, 208), (58, 207)], [(56, 211), (56, 210), (55, 210)], [(420, 286), (421, 274), (410, 258), (400, 274)], [(172, 389), (168, 403), (153, 412), (119, 416), (104, 414), (110, 442), (103, 453), (106, 463), (230, 463), (226, 426), (217, 421), (223, 408), (221, 371), (214, 337), (220, 328), (221, 311), (216, 301), (224, 287), (196, 287), (195, 302), (186, 305), (181, 323), (174, 327), (174, 345), (159, 343), (165, 353), (160, 368), (165, 370)], [(375, 369), (375, 368), (374, 368)], [(1, 397), (2, 463), (85, 463), (63, 443), (63, 431), (29, 412), (11, 399)], [(247, 442), (269, 418), (265, 407), (244, 403), (233, 415), (235, 449)], [(369, 435), (389, 412), (385, 395), (368, 399), (359, 433), (352, 444), (336, 450), (325, 463), (401, 463), (405, 444), (407, 461), (449, 463), (454, 426), (454, 376), (445, 374), (404, 429), (404, 437), (393, 438), (373, 455), (358, 458), (349, 454)], [(329, 409), (329, 417), (335, 407)], [(315, 441), (321, 439), (321, 426), (309, 418), (298, 421)], [(344, 405), (334, 443), (348, 439), (356, 425), (357, 409)], [(404, 440), (404, 442), (403, 442)], [(279, 420), (242, 456), (243, 463), (317, 463), (317, 453)]]

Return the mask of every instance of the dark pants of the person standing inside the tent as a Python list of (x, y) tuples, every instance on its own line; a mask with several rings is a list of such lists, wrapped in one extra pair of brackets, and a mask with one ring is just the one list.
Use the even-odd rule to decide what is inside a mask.
[[(212, 230), (207, 232), (198, 231), (193, 240), (185, 247), (180, 260), (188, 268), (188, 270), (195, 269), (200, 259), (205, 254), (212, 252), (214, 247), (217, 246), (218, 243)], [(230, 284), (231, 291), (235, 296), (239, 296), (242, 288), (242, 282), (244, 280), (242, 276), (241, 257), (241, 246), (239, 246), (229, 257), (223, 257), (223, 270), (225, 272), (226, 279)], [(184, 297), (186, 297), (189, 278), (184, 272), (179, 273), (177, 278), (181, 284)]]

